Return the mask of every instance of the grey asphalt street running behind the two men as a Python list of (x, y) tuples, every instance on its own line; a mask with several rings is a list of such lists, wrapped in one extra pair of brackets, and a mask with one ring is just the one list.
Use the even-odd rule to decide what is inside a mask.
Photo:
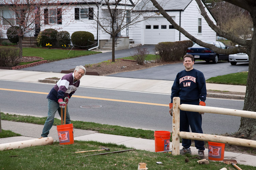
[[(46, 96), (53, 86), (53, 84), (0, 80), (1, 88), (17, 89), (17, 91), (0, 90), (1, 112), (46, 117), (48, 112)], [(29, 91), (36, 92), (31, 93)], [(170, 95), (88, 87), (79, 87), (74, 95), (77, 97), (71, 97), (68, 105), (71, 120), (151, 130), (171, 131), (172, 129), (172, 117), (169, 115), (169, 108), (160, 105), (168, 105)], [(138, 102), (156, 103), (156, 105)], [(210, 98), (207, 98), (206, 103), (207, 106), (233, 109), (242, 109), (244, 104), (243, 101)], [(102, 107), (86, 109), (80, 107), (83, 105), (101, 105)], [(59, 117), (58, 114), (56, 117)], [(203, 115), (202, 128), (204, 133), (233, 133), (238, 130), (239, 125), (240, 117), (209, 113)]]

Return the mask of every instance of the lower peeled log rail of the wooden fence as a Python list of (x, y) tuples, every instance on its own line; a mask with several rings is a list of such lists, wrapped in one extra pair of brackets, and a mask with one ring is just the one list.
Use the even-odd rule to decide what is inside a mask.
[(218, 136), (218, 135), (209, 135), (209, 134), (202, 134), (202, 133), (192, 133), (192, 132), (179, 132), (178, 134), (183, 139), (219, 142), (219, 143), (226, 143), (229, 145), (256, 148), (255, 140), (233, 138), (233, 137), (227, 137), (227, 136)]

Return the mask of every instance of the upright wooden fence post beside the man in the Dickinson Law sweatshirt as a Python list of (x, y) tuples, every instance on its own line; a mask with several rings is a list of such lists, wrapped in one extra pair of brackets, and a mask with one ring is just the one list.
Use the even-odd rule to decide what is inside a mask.
[(180, 155), (180, 98), (173, 98), (173, 114), (172, 114), (172, 155)]

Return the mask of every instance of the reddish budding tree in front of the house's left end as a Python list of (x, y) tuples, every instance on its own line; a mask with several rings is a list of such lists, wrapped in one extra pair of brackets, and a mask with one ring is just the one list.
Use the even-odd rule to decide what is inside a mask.
[[(22, 39), (24, 35), (30, 32), (38, 34), (41, 25), (47, 24), (48, 26), (51, 26), (55, 24), (54, 20), (56, 20), (56, 22), (61, 22), (61, 15), (64, 10), (67, 9), (68, 4), (64, 3), (61, 7), (59, 1), (0, 0), (0, 5), (2, 6), (1, 9), (3, 11), (3, 14), (0, 15), (0, 19), (2, 20), (2, 22), (0, 22), (0, 28), (3, 30), (12, 28), (12, 34), (18, 35), (20, 49), (19, 57), (22, 58)], [(63, 7), (64, 5), (66, 5), (65, 8)], [(47, 11), (45, 9), (47, 9)], [(52, 12), (52, 17), (49, 17), (49, 11)], [(19, 28), (15, 29), (15, 26), (18, 26)]]

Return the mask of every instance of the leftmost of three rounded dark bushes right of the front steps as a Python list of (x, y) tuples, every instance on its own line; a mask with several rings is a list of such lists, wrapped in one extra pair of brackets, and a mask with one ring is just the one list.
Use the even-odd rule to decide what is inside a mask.
[(46, 47), (46, 44), (50, 43), (52, 46), (56, 45), (58, 31), (52, 28), (45, 29), (41, 33), (41, 44)]

